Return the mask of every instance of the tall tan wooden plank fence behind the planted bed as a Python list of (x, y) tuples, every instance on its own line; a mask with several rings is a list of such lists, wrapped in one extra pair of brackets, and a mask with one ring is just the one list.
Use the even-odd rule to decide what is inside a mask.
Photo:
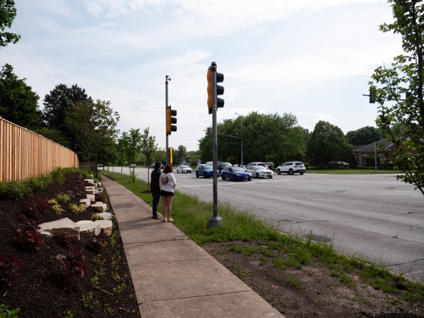
[(78, 168), (77, 154), (0, 118), (0, 181), (40, 176), (57, 167)]

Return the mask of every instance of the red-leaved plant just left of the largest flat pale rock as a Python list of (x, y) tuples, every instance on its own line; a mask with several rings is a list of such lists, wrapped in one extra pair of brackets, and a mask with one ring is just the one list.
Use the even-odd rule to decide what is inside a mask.
[(21, 228), (16, 230), (16, 242), (25, 250), (37, 251), (44, 246), (44, 240), (38, 230), (38, 226), (35, 220), (29, 220), (25, 215), (21, 215), (23, 224)]

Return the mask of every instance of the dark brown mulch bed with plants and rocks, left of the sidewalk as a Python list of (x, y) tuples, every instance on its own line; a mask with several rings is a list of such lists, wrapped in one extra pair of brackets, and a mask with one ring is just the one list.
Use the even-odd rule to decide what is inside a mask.
[[(70, 203), (79, 204), (80, 198), (85, 198), (79, 193), (83, 178), (77, 173), (69, 173), (64, 183), (54, 182), (30, 198), (0, 199), (0, 257), (3, 258), (3, 263), (0, 261), (0, 277), (7, 280), (0, 281), (0, 304), (7, 305), (10, 310), (20, 308), (18, 317), (140, 318), (116, 223), (110, 237), (100, 235), (94, 242), (88, 237), (81, 237), (75, 242), (43, 237), (44, 245), (36, 249), (36, 244), (22, 244), (16, 239), (16, 231), (23, 229), (25, 224), (21, 215), (36, 220), (37, 224), (63, 217), (74, 222), (91, 220), (92, 214), (96, 213), (93, 208), (89, 207), (79, 214), (69, 209)], [(70, 202), (60, 204), (64, 209), (61, 215), (51, 209), (30, 215), (29, 211), (34, 211), (34, 202), (50, 200), (59, 193), (72, 194), (68, 191), (76, 196)], [(31, 202), (32, 208), (28, 205)], [(98, 248), (98, 243), (103, 240), (103, 246)], [(66, 260), (62, 263), (57, 260), (64, 256), (69, 258), (72, 253), (82, 253), (85, 257), (85, 261), (73, 270)], [(16, 269), (16, 276), (8, 267), (15, 255), (18, 256), (15, 260), (18, 263), (11, 267)], [(73, 260), (81, 259), (74, 256)]]

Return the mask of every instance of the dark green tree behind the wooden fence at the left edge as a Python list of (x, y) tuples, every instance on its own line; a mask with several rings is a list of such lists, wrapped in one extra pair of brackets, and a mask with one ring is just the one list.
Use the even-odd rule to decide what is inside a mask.
[(5, 64), (0, 72), (0, 116), (28, 129), (41, 127), (38, 95), (25, 79), (18, 79), (13, 67)]

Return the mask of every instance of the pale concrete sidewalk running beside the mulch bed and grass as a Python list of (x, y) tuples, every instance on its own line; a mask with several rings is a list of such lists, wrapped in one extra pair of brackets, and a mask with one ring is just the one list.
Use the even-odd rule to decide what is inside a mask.
[(172, 223), (103, 176), (143, 318), (283, 317)]

